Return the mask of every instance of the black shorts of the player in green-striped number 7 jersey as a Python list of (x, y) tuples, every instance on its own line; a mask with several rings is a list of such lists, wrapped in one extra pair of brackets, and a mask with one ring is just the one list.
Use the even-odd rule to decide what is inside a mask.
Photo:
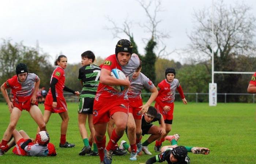
[(78, 104), (78, 113), (93, 114), (94, 98), (80, 98)]

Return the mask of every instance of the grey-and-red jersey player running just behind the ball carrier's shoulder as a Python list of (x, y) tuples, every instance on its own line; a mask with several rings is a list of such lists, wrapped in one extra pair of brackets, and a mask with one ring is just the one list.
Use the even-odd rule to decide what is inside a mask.
[[(141, 69), (142, 62), (140, 61), (140, 66), (133, 73), (130, 81), (131, 85), (128, 89), (129, 117), (127, 123), (127, 136), (131, 145), (130, 160), (136, 160), (137, 153), (142, 150), (140, 142), (142, 138), (142, 114), (145, 114), (148, 111), (149, 106), (158, 95), (157, 88), (150, 79), (140, 72)], [(143, 105), (141, 92), (144, 87), (151, 92), (151, 95), (146, 104)]]

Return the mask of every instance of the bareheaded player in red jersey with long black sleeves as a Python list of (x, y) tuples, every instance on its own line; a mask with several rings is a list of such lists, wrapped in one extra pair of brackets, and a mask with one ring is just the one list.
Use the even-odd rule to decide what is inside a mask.
[(79, 96), (79, 91), (74, 91), (65, 86), (65, 71), (67, 67), (67, 57), (60, 55), (54, 65), (58, 66), (52, 73), (50, 81), (50, 89), (45, 98), (45, 111), (44, 121), (45, 124), (49, 121), (52, 113), (59, 113), (62, 122), (60, 127), (60, 148), (71, 148), (74, 144), (70, 144), (66, 141), (66, 134), (68, 129), (68, 109), (67, 104), (63, 95), (63, 90), (73, 93)]

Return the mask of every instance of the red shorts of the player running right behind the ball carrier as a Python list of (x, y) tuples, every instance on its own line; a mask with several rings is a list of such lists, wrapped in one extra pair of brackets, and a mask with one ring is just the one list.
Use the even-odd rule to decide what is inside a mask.
[(142, 99), (129, 99), (129, 113), (132, 113), (133, 118), (136, 120), (141, 120), (142, 118), (142, 115), (139, 114), (141, 110), (139, 107), (142, 105)]

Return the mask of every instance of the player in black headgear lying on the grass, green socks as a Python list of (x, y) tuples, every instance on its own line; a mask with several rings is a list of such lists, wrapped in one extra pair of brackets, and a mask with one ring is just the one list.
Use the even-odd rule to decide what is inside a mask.
[(177, 139), (173, 136), (166, 136), (165, 140), (170, 140), (172, 145), (162, 147), (161, 154), (151, 157), (147, 160), (146, 164), (163, 161), (167, 161), (168, 164), (189, 164), (188, 152), (205, 155), (210, 153), (208, 148), (177, 146)]

